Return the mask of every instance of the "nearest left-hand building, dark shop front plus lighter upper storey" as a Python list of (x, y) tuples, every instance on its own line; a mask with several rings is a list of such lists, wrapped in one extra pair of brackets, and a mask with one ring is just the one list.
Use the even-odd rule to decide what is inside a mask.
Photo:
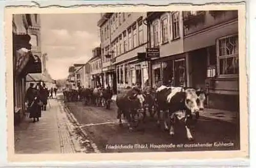
[[(32, 35), (32, 30), (35, 34)], [(12, 17), (13, 36), (13, 89), (14, 89), (14, 124), (19, 123), (25, 114), (26, 76), (29, 73), (41, 73), (41, 61), (36, 51), (37, 32), (40, 30), (37, 14), (15, 14)], [(36, 43), (34, 41), (37, 41)]]

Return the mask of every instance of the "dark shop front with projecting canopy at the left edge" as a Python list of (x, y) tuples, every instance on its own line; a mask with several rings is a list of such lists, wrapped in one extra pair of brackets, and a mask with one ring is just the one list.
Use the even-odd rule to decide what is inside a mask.
[(34, 56), (28, 34), (13, 34), (13, 102), (14, 125), (19, 124), (25, 114), (26, 76), (41, 73), (41, 60)]

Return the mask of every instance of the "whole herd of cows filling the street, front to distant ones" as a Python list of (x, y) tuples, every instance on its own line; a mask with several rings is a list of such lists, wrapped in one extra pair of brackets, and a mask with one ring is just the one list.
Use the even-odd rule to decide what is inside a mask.
[[(83, 88), (63, 91), (67, 101), (83, 100), (84, 104), (94, 104), (110, 108), (113, 92), (110, 88)], [(196, 123), (200, 111), (204, 110), (206, 94), (202, 89), (188, 87), (157, 88), (144, 87), (143, 89), (127, 87), (117, 94), (117, 118), (122, 124), (122, 116), (127, 122), (130, 131), (144, 121), (145, 116), (157, 114), (157, 125), (161, 123), (169, 134), (174, 136), (176, 121), (184, 124), (188, 140), (193, 140), (190, 132), (191, 125)]]

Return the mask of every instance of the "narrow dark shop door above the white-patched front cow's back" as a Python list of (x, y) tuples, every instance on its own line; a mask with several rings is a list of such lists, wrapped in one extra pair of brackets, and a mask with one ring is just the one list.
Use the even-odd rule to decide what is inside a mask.
[(183, 86), (186, 87), (186, 62), (185, 58), (175, 60), (174, 62), (175, 68), (175, 77), (174, 84), (175, 86)]

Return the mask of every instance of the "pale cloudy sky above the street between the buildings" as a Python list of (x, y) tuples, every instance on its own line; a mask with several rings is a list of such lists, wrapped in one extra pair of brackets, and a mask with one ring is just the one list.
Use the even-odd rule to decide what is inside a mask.
[(100, 46), (97, 22), (100, 14), (41, 14), (41, 52), (54, 80), (68, 76), (74, 63), (86, 63)]

